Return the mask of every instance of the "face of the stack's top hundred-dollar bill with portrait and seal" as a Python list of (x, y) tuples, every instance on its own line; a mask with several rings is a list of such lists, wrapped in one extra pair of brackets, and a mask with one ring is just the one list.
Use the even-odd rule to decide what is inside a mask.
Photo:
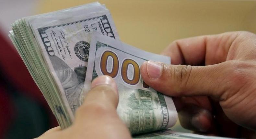
[[(66, 17), (63, 13), (60, 16)], [(109, 11), (103, 6), (83, 9), (61, 22), (53, 21), (49, 17), (47, 20), (43, 19), (43, 26), (39, 24), (42, 19), (31, 24), (35, 26), (35, 36), (39, 40), (44, 58), (58, 84), (64, 102), (68, 104), (68, 111), (73, 115), (83, 98), (81, 92), (90, 48), (88, 34), (97, 31), (112, 38), (118, 38), (118, 34)]]

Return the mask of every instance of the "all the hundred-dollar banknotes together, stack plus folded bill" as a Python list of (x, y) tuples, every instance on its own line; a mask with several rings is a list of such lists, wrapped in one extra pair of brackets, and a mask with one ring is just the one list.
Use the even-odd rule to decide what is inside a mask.
[(215, 138), (167, 129), (177, 121), (174, 103), (143, 82), (140, 65), (170, 64), (170, 58), (121, 42), (105, 5), (24, 17), (9, 37), (63, 129), (74, 121), (91, 81), (109, 75), (118, 86), (118, 115), (131, 134), (142, 134), (134, 138)]

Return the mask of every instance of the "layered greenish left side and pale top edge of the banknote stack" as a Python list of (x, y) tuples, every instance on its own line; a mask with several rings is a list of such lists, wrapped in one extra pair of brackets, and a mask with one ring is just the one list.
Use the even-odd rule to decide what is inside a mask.
[(72, 114), (66, 109), (69, 106), (64, 106), (66, 103), (63, 102), (64, 100), (61, 97), (58, 84), (54, 81), (46, 59), (42, 55), (43, 52), (40, 47), (40, 43), (35, 37), (35, 30), (31, 22), (38, 19), (43, 20), (44, 18), (54, 19), (55, 17), (61, 17), (62, 15), (65, 16), (63, 18), (67, 18), (68, 16), (77, 16), (75, 14), (84, 14), (83, 11), (88, 8), (99, 8), (108, 11), (105, 5), (95, 2), (46, 14), (24, 17), (16, 20), (15, 23), (12, 24), (12, 30), (9, 34), (10, 39), (24, 61), (29, 73), (41, 90), (62, 128), (70, 126), (74, 117), (71, 116)]

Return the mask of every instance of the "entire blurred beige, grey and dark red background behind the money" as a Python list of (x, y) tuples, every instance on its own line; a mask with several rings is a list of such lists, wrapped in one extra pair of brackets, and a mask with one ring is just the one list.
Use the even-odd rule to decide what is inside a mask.
[[(18, 18), (93, 0), (0, 0), (0, 138), (34, 138), (57, 126), (48, 104), (13, 47), (8, 32)], [(256, 33), (252, 0), (99, 0), (120, 39), (153, 53), (173, 40), (227, 31)], [(172, 128), (180, 132), (179, 122)]]

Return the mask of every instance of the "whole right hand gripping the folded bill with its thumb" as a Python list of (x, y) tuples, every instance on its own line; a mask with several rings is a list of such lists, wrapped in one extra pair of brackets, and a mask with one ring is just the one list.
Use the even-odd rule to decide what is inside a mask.
[(174, 97), (183, 127), (230, 137), (255, 134), (240, 127), (256, 130), (255, 34), (180, 39), (162, 54), (172, 65), (147, 61), (141, 75), (146, 84)]

